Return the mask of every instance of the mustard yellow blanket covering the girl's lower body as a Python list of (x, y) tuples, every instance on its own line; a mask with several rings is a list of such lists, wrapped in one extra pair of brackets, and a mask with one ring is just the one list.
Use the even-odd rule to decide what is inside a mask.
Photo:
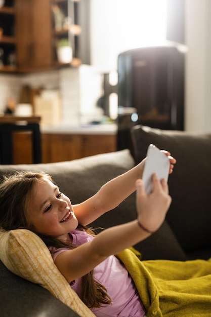
[(211, 258), (140, 261), (129, 249), (117, 257), (131, 274), (147, 317), (211, 316)]

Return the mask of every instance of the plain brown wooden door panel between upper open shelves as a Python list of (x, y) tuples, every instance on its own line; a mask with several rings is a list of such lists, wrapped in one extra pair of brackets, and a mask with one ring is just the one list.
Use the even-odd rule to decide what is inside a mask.
[(19, 71), (52, 66), (50, 0), (16, 0)]

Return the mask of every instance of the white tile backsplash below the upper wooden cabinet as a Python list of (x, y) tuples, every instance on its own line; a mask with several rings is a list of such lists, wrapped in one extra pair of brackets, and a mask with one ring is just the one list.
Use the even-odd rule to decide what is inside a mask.
[(0, 74), (0, 112), (3, 113), (7, 98), (19, 102), (21, 88), (59, 89), (62, 99), (64, 125), (85, 124), (96, 120), (102, 110), (96, 104), (103, 94), (102, 75), (89, 65), (63, 68), (24, 75)]

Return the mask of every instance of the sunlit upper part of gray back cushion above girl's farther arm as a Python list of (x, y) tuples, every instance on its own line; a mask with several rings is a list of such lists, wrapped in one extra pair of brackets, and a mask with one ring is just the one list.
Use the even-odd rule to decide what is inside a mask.
[(45, 171), (70, 197), (72, 204), (78, 204), (96, 193), (100, 187), (134, 166), (133, 157), (128, 150), (85, 157), (69, 162), (0, 165), (0, 180), (4, 173), (15, 171)]

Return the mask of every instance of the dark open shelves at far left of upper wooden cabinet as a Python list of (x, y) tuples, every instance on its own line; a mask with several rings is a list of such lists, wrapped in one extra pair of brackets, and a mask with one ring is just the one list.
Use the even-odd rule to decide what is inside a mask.
[(0, 8), (0, 71), (14, 72), (16, 68), (16, 10), (14, 2), (6, 0)]

